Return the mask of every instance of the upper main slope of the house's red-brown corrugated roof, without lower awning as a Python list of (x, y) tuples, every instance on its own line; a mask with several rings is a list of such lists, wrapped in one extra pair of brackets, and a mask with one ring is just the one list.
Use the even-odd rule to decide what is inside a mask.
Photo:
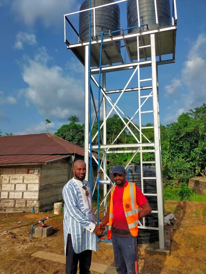
[(84, 149), (50, 133), (9, 135), (0, 137), (0, 155), (79, 154)]

